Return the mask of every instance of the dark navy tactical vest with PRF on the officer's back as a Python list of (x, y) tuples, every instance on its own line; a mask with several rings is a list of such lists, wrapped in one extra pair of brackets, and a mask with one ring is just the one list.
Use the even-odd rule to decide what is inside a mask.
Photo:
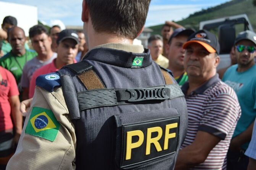
[(75, 126), (77, 170), (174, 168), (187, 110), (166, 70), (154, 62), (123, 68), (83, 60), (58, 73)]

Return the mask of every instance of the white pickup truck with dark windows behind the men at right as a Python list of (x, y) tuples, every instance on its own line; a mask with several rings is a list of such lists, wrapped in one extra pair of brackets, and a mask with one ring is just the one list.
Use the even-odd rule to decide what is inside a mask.
[(253, 27), (246, 14), (202, 21), (199, 24), (199, 29), (206, 29), (214, 33), (219, 39), (220, 64), (217, 68), (218, 70), (230, 65), (229, 53), (237, 34), (245, 30), (253, 31)]

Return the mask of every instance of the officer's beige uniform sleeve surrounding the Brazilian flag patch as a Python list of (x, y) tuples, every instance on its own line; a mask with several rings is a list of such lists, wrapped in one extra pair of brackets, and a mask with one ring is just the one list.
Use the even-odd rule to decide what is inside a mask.
[[(41, 138), (25, 133), (29, 122), (33, 121), (31, 114), (33, 114), (32, 110), (34, 108), (51, 110), (56, 120), (60, 123), (57, 136), (53, 141), (46, 139), (46, 137), (50, 136)], [(45, 113), (42, 112), (40, 114), (43, 115)], [(44, 117), (37, 118), (39, 118), (38, 121), (44, 120)], [(36, 124), (35, 119), (33, 124), (40, 129), (40, 124)], [(18, 147), (15, 154), (8, 162), (6, 170), (75, 169), (75, 144), (75, 130), (68, 118), (68, 109), (65, 104), (62, 88), (59, 87), (54, 92), (47, 92), (40, 87), (36, 87), (36, 92), (24, 123)]]

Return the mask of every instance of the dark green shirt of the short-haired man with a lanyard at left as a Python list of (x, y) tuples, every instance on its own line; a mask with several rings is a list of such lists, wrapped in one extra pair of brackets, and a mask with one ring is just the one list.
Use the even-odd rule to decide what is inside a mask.
[(26, 53), (22, 56), (14, 55), (12, 52), (7, 53), (5, 56), (0, 58), (0, 65), (3, 68), (11, 71), (15, 77), (16, 83), (19, 84), (23, 67), (32, 58), (36, 57), (37, 53), (34, 50), (26, 50)]

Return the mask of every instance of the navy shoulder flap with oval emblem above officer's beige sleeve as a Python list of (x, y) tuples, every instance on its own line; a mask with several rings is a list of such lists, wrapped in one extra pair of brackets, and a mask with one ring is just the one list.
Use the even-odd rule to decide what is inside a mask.
[(53, 92), (54, 87), (61, 86), (60, 74), (54, 72), (38, 76), (36, 78), (36, 86), (42, 87), (49, 92)]

